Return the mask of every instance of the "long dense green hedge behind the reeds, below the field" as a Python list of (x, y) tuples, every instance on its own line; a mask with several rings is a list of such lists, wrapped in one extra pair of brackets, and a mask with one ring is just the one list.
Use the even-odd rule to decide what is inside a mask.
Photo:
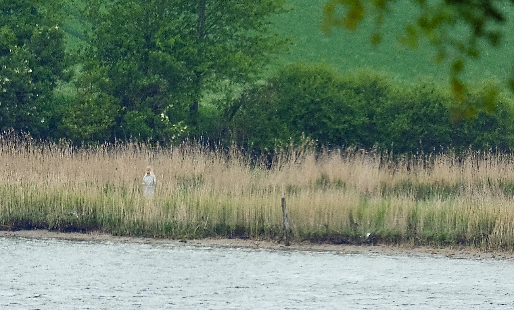
[(376, 72), (340, 75), (325, 65), (290, 64), (247, 90), (234, 131), (261, 149), (304, 137), (319, 146), (396, 153), (509, 149), (514, 101), (499, 94), (488, 108), (486, 96), (496, 89), (489, 84), (476, 86), (459, 104), (430, 82), (406, 85)]

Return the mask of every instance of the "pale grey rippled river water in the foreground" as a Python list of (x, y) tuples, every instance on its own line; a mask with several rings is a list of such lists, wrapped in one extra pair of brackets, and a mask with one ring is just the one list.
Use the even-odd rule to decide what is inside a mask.
[(1, 309), (512, 309), (514, 262), (0, 238)]

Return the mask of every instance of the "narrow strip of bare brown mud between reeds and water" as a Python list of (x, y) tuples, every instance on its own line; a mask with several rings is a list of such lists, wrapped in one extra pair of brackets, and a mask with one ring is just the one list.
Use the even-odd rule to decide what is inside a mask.
[(213, 248), (264, 249), (270, 251), (313, 251), (335, 254), (404, 255), (415, 257), (448, 257), (455, 259), (499, 259), (514, 261), (514, 253), (504, 251), (484, 251), (470, 247), (431, 247), (412, 245), (350, 245), (313, 243), (309, 241), (291, 242), (290, 246), (274, 240), (205, 238), (191, 240), (156, 239), (144, 237), (113, 236), (97, 231), (91, 233), (59, 233), (46, 229), (0, 230), (0, 238), (24, 238), (34, 240), (69, 240), (88, 242), (126, 242), (152, 245), (178, 245)]

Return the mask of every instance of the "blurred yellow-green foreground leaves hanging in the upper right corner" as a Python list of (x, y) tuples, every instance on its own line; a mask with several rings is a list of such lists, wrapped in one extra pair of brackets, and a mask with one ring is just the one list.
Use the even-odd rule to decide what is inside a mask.
[[(332, 27), (356, 29), (366, 14), (375, 16), (377, 30), (371, 36), (372, 44), (381, 40), (380, 26), (387, 18), (388, 9), (397, 0), (328, 0), (323, 17), (322, 30), (328, 33)], [(411, 1), (418, 8), (419, 14), (410, 25), (405, 25), (405, 34), (400, 40), (416, 48), (419, 40), (426, 38), (435, 46), (438, 54), (434, 59), (440, 63), (445, 59), (451, 64), (451, 89), (458, 102), (465, 105), (467, 86), (461, 81), (460, 73), (465, 70), (467, 59), (481, 56), (481, 46), (497, 47), (502, 36), (507, 15), (511, 11), (511, 1), (501, 0), (449, 0), (449, 1)], [(343, 13), (338, 7), (344, 8)], [(458, 28), (460, 35), (455, 35)], [(462, 31), (464, 30), (464, 35)], [(514, 72), (508, 80), (514, 91)], [(493, 105), (495, 98), (489, 96), (486, 105)], [(464, 113), (469, 110), (462, 109)]]

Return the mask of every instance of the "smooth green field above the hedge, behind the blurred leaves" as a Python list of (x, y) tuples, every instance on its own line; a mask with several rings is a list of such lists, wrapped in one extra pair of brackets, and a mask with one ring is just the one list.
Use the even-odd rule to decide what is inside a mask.
[[(402, 0), (390, 7), (381, 30), (382, 42), (376, 48), (370, 42), (370, 36), (376, 29), (371, 16), (359, 24), (355, 32), (333, 29), (329, 35), (323, 34), (321, 22), (325, 3), (326, 0), (289, 0), (287, 6), (291, 11), (273, 18), (277, 31), (296, 37), (291, 53), (283, 57), (284, 61), (325, 62), (342, 73), (372, 68), (385, 71), (400, 80), (412, 81), (427, 76), (436, 81), (448, 80), (448, 63), (434, 64), (436, 50), (428, 42), (421, 42), (416, 50), (412, 50), (398, 41), (398, 37), (414, 18), (409, 13), (415, 10), (410, 1)], [(512, 6), (508, 10), (512, 11)], [(513, 21), (508, 21), (505, 29), (513, 29), (513, 26)], [(454, 33), (456, 36), (462, 34), (458, 31)], [(513, 43), (514, 33), (507, 31), (502, 47), (487, 47), (483, 49), (480, 60), (467, 64), (465, 79), (480, 81), (498, 76), (502, 80), (510, 74), (514, 50), (509, 47)]]

